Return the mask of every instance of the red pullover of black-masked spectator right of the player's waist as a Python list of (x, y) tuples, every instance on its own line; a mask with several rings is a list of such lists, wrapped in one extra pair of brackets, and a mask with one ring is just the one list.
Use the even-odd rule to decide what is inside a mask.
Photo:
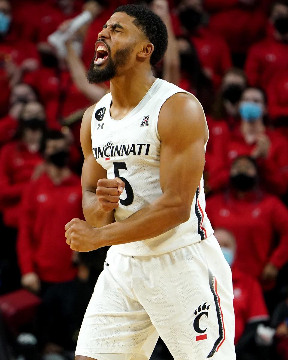
[(235, 235), (240, 270), (259, 277), (268, 262), (280, 269), (288, 261), (288, 210), (278, 198), (251, 192), (238, 199), (231, 191), (208, 198), (206, 212), (214, 229)]

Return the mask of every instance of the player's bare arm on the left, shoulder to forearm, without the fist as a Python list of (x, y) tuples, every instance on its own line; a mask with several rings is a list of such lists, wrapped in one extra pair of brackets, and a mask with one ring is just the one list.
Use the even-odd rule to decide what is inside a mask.
[(107, 179), (107, 172), (100, 166), (94, 158), (91, 145), (91, 117), (95, 105), (89, 107), (83, 116), (80, 140), (84, 154), (84, 163), (82, 167), (82, 207), (85, 220), (91, 226), (100, 228), (101, 226), (111, 224), (115, 221), (114, 210), (103, 212), (99, 208), (96, 195), (97, 184), (100, 179)]

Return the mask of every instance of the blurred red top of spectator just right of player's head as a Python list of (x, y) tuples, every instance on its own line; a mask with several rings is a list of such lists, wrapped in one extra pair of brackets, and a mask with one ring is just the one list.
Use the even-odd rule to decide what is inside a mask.
[(201, 28), (190, 37), (193, 42), (200, 63), (211, 73), (213, 85), (218, 87), (222, 76), (231, 66), (230, 51), (225, 41), (207, 28)]

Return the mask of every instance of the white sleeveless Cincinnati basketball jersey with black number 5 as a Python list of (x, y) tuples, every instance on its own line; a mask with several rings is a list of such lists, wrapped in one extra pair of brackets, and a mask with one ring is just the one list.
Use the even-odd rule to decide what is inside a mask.
[[(159, 177), (158, 115), (163, 103), (176, 93), (187, 91), (157, 79), (140, 103), (118, 121), (110, 116), (111, 93), (104, 95), (95, 106), (91, 121), (94, 157), (107, 170), (108, 179), (120, 177), (126, 184), (115, 210), (116, 221), (125, 220), (163, 194)], [(157, 237), (113, 247), (123, 255), (159, 255), (199, 242), (211, 234), (213, 229), (205, 212), (202, 175), (188, 221)]]

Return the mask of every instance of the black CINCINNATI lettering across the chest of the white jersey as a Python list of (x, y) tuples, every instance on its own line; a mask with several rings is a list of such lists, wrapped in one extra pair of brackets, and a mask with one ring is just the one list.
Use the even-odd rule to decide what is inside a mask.
[(111, 141), (106, 145), (93, 148), (93, 155), (95, 159), (107, 158), (114, 156), (129, 156), (129, 155), (149, 155), (151, 144), (122, 144), (113, 145)]

